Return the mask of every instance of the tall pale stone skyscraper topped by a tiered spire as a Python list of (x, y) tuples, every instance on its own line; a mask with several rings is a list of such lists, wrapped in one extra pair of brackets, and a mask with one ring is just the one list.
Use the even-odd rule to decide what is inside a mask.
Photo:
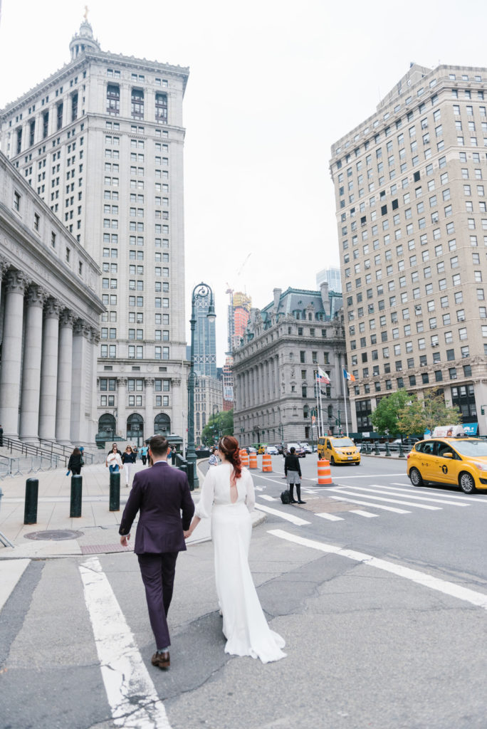
[(1, 110), (1, 149), (101, 268), (100, 440), (182, 434), (188, 69), (104, 52), (87, 20), (69, 49)]

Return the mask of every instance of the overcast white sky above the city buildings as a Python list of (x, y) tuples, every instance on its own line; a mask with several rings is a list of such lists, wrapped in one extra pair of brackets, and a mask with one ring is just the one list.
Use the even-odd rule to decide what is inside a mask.
[[(0, 108), (69, 61), (84, 1), (0, 0)], [(190, 66), (186, 312), (203, 279), (227, 347), (227, 283), (262, 308), (339, 265), (330, 146), (410, 61), (487, 66), (485, 0), (87, 0), (103, 50)], [(242, 268), (248, 254), (251, 254)]]

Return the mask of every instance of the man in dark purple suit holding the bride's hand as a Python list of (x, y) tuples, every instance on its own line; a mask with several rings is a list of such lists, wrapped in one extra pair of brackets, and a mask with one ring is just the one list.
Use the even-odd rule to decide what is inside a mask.
[(167, 615), (173, 596), (176, 559), (186, 549), (183, 531), (190, 528), (195, 512), (187, 475), (169, 466), (168, 449), (163, 435), (154, 435), (149, 440), (152, 468), (139, 471), (133, 477), (119, 529), (120, 544), (126, 547), (133, 520), (140, 512), (134, 552), (139, 558), (155, 636), (157, 650), (152, 656), (152, 666), (159, 668), (170, 666)]

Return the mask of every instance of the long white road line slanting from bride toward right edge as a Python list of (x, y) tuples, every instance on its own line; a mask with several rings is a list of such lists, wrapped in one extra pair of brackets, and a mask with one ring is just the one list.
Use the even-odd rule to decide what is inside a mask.
[(461, 585), (456, 585), (454, 582), (440, 580), (438, 577), (432, 577), (431, 574), (426, 574), (426, 572), (419, 572), (417, 569), (410, 569), (410, 567), (404, 567), (401, 564), (394, 564), (393, 562), (373, 557), (370, 554), (355, 552), (354, 550), (344, 549), (343, 547), (327, 545), (323, 542), (315, 542), (313, 539), (298, 537), (296, 534), (290, 534), (288, 531), (283, 531), (282, 529), (269, 529), (268, 534), (273, 534), (274, 537), (278, 537), (279, 539), (287, 539), (288, 542), (294, 542), (295, 544), (303, 545), (303, 547), (310, 547), (311, 549), (319, 550), (320, 552), (336, 554), (340, 557), (353, 559), (356, 562), (362, 562), (370, 567), (383, 569), (385, 572), (396, 574), (398, 577), (404, 577), (405, 580), (416, 582), (416, 584), (423, 585), (430, 590), (437, 590), (437, 592), (444, 593), (445, 595), (455, 597), (459, 600), (464, 600), (465, 602), (470, 602), (470, 604), (475, 605), (476, 607), (481, 607), (484, 610), (487, 610), (486, 594), (461, 587)]

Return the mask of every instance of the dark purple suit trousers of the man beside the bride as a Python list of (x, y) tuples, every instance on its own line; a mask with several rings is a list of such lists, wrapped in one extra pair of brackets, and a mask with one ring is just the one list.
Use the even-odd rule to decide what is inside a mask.
[(168, 630), (168, 609), (174, 588), (174, 573), (179, 552), (139, 554), (139, 567), (144, 582), (147, 608), (157, 649), (171, 645)]

